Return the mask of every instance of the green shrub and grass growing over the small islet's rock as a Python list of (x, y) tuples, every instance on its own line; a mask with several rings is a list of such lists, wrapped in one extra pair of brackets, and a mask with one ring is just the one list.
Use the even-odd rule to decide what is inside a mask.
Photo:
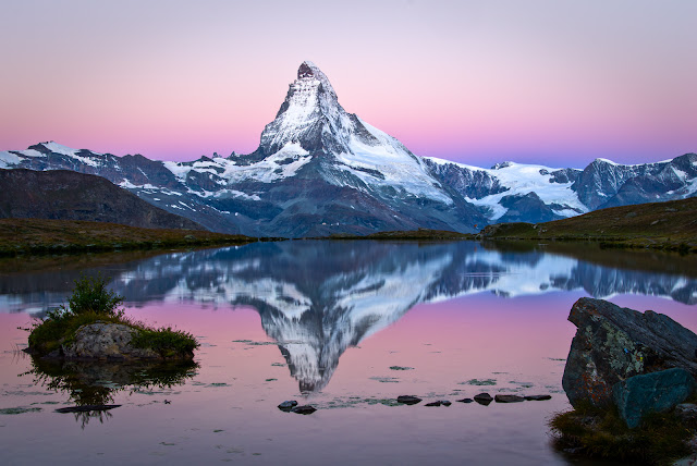
[(136, 347), (150, 348), (162, 358), (191, 357), (200, 344), (194, 335), (171, 327), (152, 329), (124, 316), (120, 308), (123, 297), (107, 289), (107, 280), (82, 277), (75, 281), (68, 306), (49, 310), (44, 319), (29, 330), (29, 351), (38, 356), (49, 355), (62, 345), (74, 341), (75, 332), (83, 326), (107, 322), (121, 323), (136, 330), (132, 343)]

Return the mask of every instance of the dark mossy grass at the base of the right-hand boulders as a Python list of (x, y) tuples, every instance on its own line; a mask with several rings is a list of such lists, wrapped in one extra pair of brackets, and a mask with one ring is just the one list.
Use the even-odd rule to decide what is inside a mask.
[(562, 451), (610, 461), (669, 465), (690, 454), (687, 441), (695, 426), (674, 412), (652, 413), (641, 426), (627, 428), (615, 407), (590, 404), (554, 416), (550, 422), (554, 445)]

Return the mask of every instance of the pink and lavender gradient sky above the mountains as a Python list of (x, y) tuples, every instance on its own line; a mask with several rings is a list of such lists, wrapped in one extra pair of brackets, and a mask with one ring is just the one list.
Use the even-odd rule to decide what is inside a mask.
[(697, 151), (697, 2), (0, 2), (0, 150), (253, 151), (303, 60), (413, 152), (585, 167)]

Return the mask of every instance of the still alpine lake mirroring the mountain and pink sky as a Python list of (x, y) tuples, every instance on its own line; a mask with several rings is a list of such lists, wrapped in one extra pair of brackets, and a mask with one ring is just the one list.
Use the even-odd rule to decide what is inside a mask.
[[(193, 364), (33, 360), (82, 274), (201, 343)], [(576, 299), (697, 331), (697, 257), (572, 244), (286, 241), (0, 261), (0, 462), (565, 465), (549, 419)], [(477, 393), (551, 395), (458, 403)], [(416, 405), (396, 402), (417, 395)], [(310, 415), (278, 408), (295, 400)], [(450, 406), (426, 406), (447, 400)], [(109, 410), (58, 408), (117, 404)], [(590, 463), (580, 463), (590, 464)]]

